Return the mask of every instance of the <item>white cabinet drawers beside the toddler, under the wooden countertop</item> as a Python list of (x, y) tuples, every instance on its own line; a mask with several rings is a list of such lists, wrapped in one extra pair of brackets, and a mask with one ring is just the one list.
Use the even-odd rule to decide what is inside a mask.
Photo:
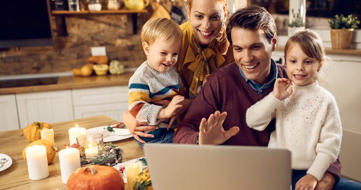
[(74, 117), (105, 115), (121, 121), (128, 109), (128, 86), (73, 89)]

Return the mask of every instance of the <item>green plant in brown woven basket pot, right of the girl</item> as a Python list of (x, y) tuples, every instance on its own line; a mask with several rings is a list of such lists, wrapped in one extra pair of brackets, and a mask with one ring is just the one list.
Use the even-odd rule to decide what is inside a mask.
[(357, 24), (360, 23), (357, 17), (352, 14), (347, 17), (336, 14), (328, 23), (331, 27), (332, 49), (349, 49), (353, 30), (358, 28)]

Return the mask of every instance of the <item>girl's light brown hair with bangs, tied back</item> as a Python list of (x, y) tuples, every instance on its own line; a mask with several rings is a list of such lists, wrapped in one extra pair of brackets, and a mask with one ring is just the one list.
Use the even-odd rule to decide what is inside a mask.
[[(287, 40), (284, 48), (284, 56), (287, 56), (287, 51), (292, 44), (299, 44), (302, 51), (309, 57), (318, 60), (321, 68), (317, 70), (313, 79), (318, 80), (321, 85), (325, 84), (326, 73), (329, 69), (331, 58), (325, 55), (321, 36), (310, 29), (299, 29)], [(287, 66), (287, 65), (286, 65)]]

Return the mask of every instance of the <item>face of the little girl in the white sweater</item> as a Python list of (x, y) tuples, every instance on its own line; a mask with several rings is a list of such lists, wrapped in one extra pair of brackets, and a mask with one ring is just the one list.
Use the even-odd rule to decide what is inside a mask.
[(322, 62), (308, 57), (298, 43), (289, 46), (285, 60), (288, 78), (299, 86), (313, 83), (318, 67), (322, 66)]

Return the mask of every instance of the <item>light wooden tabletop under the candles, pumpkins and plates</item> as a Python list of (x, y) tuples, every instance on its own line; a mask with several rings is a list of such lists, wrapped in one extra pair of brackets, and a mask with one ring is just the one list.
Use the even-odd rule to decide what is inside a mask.
[[(63, 122), (51, 123), (54, 129), (55, 145), (63, 149), (69, 143), (68, 129), (78, 123), (80, 127), (92, 128), (102, 125), (116, 124), (118, 121), (100, 115)], [(13, 164), (0, 172), (0, 189), (66, 189), (62, 183), (59, 165), (59, 156), (49, 164), (49, 177), (42, 180), (30, 180), (27, 162), (22, 152), (30, 142), (25, 138), (23, 129), (0, 132), (0, 153), (5, 153), (13, 159)], [(142, 148), (133, 138), (113, 142), (124, 150), (123, 161), (144, 156)]]

